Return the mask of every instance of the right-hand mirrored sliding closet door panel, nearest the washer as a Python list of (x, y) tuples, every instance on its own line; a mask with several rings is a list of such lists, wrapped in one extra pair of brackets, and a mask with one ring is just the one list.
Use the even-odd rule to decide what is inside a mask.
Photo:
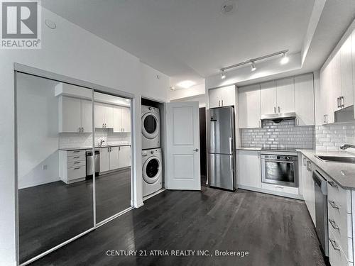
[(131, 101), (94, 92), (97, 223), (131, 206)]

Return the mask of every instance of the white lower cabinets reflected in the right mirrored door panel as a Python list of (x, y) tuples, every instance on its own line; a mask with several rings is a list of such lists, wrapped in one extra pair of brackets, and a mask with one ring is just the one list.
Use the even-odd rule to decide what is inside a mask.
[(100, 172), (131, 166), (131, 146), (111, 146), (100, 149)]

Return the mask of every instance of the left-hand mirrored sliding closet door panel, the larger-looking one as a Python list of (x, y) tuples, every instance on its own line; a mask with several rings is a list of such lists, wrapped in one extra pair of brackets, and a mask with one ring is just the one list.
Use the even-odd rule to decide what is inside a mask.
[(60, 146), (82, 135), (92, 150), (92, 90), (21, 73), (16, 85), (22, 263), (94, 226), (85, 150)]

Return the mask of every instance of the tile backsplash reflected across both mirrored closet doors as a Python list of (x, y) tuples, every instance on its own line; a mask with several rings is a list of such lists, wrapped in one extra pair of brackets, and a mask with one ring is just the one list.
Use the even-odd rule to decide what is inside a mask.
[[(97, 128), (95, 131), (95, 145), (100, 140), (109, 144), (131, 143), (131, 133), (113, 132), (110, 128)], [(82, 148), (92, 145), (92, 133), (60, 133), (59, 148)]]

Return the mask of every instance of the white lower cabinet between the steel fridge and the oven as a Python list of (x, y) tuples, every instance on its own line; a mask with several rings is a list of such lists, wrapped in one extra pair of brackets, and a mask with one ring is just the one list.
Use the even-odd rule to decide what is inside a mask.
[(254, 150), (238, 150), (238, 184), (246, 187), (261, 188), (260, 152)]

